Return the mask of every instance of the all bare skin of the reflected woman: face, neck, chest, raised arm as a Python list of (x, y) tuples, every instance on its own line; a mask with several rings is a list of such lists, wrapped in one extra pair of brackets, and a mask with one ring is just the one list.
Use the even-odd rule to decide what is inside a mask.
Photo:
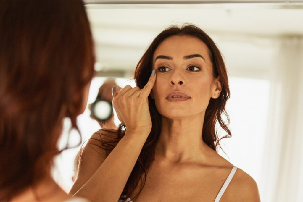
[[(204, 60), (201, 57), (184, 59), (192, 54), (199, 54)], [(156, 60), (159, 55), (171, 59)], [(83, 161), (71, 194), (91, 201), (118, 201), (151, 131), (147, 103), (151, 93), (162, 116), (162, 128), (155, 147), (155, 161), (136, 202), (215, 200), (233, 165), (208, 147), (201, 137), (208, 102), (216, 99), (222, 89), (219, 78), (212, 75), (208, 48), (197, 38), (173, 36), (158, 46), (153, 61), (153, 69), (165, 66), (169, 71), (157, 70), (144, 89), (126, 86), (113, 93), (113, 106), (126, 126), (125, 136), (107, 157), (98, 147), (103, 135), (92, 136), (83, 150)], [(201, 71), (188, 69), (191, 64)], [(191, 99), (167, 101), (167, 94), (174, 90), (185, 92)], [(138, 194), (141, 183), (131, 198)], [(260, 201), (255, 181), (238, 169), (221, 201)]]

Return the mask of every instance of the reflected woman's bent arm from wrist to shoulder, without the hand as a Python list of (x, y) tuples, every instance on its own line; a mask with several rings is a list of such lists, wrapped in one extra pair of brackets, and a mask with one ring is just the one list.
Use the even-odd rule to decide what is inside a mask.
[(77, 180), (70, 193), (92, 202), (118, 201), (147, 136), (147, 133), (130, 135), (126, 131), (106, 159), (105, 152), (100, 152), (101, 148), (86, 146)]

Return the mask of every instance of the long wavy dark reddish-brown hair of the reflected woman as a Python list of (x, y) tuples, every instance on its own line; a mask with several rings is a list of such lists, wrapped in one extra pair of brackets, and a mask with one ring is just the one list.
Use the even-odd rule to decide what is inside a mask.
[[(184, 35), (197, 37), (206, 44), (208, 47), (209, 57), (212, 62), (213, 76), (214, 78), (218, 78), (218, 76), (220, 77), (222, 91), (217, 99), (211, 98), (208, 104), (205, 112), (203, 131), (201, 134), (203, 141), (213, 150), (218, 151), (217, 147), (220, 145), (219, 141), (225, 137), (231, 137), (231, 132), (227, 126), (229, 117), (225, 111), (225, 104), (229, 98), (228, 76), (221, 52), (215, 45), (214, 41), (204, 31), (191, 24), (185, 24), (181, 27), (174, 25), (162, 31), (152, 41), (151, 45), (146, 49), (144, 55), (138, 62), (138, 65), (135, 69), (135, 81), (140, 89), (142, 89), (145, 84), (147, 84), (152, 71), (153, 55), (156, 48), (161, 44), (162, 41), (171, 36)], [(140, 190), (132, 200), (135, 200), (138, 197), (144, 187), (148, 168), (155, 160), (155, 145), (161, 132), (161, 115), (157, 111), (155, 101), (151, 98), (150, 95), (148, 96), (148, 105), (152, 122), (151, 132), (148, 135), (145, 144), (143, 145), (142, 151), (138, 157), (135, 167), (133, 168), (128, 178), (124, 191), (122, 192), (122, 195), (120, 197), (122, 200), (130, 197), (134, 189), (138, 186), (139, 181), (142, 180), (143, 183), (141, 183)], [(222, 115), (225, 115), (225, 121), (223, 120)], [(220, 127), (227, 132), (227, 135), (221, 138), (218, 137), (216, 123), (218, 123)], [(106, 131), (105, 135), (111, 134), (111, 138), (102, 140), (103, 149), (106, 150), (106, 154), (108, 155), (115, 148), (120, 139), (124, 136), (125, 126), (123, 124), (120, 124), (118, 130), (116, 131), (106, 129), (103, 129), (103, 131)], [(102, 131), (100, 132), (103, 134)]]

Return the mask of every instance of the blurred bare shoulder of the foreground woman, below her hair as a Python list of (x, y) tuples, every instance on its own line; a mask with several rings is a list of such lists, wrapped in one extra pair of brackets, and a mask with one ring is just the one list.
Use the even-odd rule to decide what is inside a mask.
[(49, 175), (25, 189), (21, 194), (15, 197), (12, 202), (52, 202), (66, 200), (68, 198), (70, 198), (70, 196), (68, 196)]

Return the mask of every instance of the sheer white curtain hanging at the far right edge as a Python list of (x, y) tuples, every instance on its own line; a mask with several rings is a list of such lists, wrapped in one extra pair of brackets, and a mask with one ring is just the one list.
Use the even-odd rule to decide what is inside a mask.
[(303, 201), (303, 37), (277, 38), (262, 164), (264, 201)]

